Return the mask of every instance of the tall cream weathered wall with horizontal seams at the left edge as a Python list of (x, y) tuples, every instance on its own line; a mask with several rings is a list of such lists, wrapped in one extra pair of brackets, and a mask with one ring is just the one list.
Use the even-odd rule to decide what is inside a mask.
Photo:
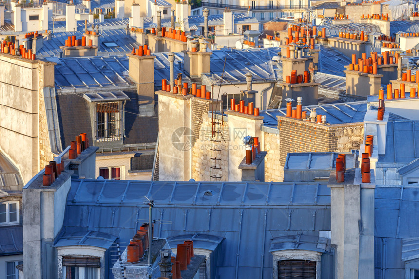
[(52, 158), (43, 88), (54, 86), (54, 64), (4, 54), (0, 69), (0, 145), (28, 182)]

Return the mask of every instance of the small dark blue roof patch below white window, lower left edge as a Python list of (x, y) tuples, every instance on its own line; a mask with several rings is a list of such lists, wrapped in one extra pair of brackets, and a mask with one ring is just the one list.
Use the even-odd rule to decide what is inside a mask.
[(0, 228), (0, 256), (23, 253), (23, 227)]

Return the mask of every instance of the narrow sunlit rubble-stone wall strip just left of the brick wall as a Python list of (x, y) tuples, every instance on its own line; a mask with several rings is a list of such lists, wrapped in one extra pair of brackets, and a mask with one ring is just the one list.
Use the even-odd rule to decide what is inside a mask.
[(265, 182), (284, 180), (284, 166), (280, 162), (279, 134), (263, 133), (263, 151), (265, 156)]

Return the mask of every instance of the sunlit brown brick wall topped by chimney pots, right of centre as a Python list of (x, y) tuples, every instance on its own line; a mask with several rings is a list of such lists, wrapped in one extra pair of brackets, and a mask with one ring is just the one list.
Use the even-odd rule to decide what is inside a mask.
[(280, 162), (288, 152), (348, 152), (363, 140), (363, 123), (322, 125), (278, 118)]

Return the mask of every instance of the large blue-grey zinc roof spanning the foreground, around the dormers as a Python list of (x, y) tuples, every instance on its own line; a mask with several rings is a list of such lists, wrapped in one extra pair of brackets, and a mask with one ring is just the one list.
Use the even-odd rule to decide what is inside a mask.
[(123, 249), (147, 220), (143, 196), (154, 200), (152, 219), (171, 221), (157, 223), (155, 237), (199, 234), (215, 241), (210, 247), (224, 238), (215, 263), (220, 279), (234, 278), (236, 270), (238, 278), (271, 279), (271, 238), (330, 230), (326, 184), (116, 180), (72, 180), (63, 230), (111, 234)]

